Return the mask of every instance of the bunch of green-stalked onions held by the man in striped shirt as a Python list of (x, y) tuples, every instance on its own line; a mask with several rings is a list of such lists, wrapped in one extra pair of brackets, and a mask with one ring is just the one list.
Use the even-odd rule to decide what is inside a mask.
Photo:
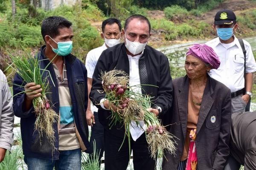
[[(38, 60), (37, 57), (39, 54), (36, 54), (36, 57), (33, 57), (26, 49), (20, 53), (17, 52), (14, 55), (9, 55), (12, 64), (9, 64), (8, 68), (12, 68), (24, 80), (23, 84), (35, 82), (36, 85), (41, 85), (41, 88), (43, 89), (41, 96), (34, 98), (32, 101), (36, 116), (34, 130), (38, 131), (40, 138), (45, 135), (54, 150), (55, 130), (52, 125), (57, 121), (58, 114), (52, 110), (50, 106), (52, 103), (46, 96), (49, 88), (48, 77), (50, 77), (52, 82), (53, 80), (50, 74), (48, 74), (48, 77), (43, 77), (45, 71), (49, 73), (46, 68), (51, 62), (49, 62), (46, 68), (41, 69), (40, 62), (42, 60)], [(18, 86), (24, 88), (23, 85)], [(29, 91), (22, 91), (21, 93), (29, 93)]]

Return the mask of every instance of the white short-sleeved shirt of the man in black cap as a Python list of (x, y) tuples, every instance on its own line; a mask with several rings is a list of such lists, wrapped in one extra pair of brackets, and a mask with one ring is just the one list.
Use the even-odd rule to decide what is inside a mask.
[[(209, 75), (230, 88), (231, 93), (244, 88), (244, 54), (239, 40), (234, 38), (229, 44), (221, 43), (218, 37), (206, 43), (213, 48), (221, 62), (220, 67), (211, 69)], [(249, 42), (244, 40), (244, 46), (246, 73), (252, 73), (256, 71), (256, 62)]]

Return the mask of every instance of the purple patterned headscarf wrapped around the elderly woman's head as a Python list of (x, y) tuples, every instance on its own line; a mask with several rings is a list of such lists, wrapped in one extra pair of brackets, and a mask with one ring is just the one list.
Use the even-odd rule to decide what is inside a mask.
[(206, 44), (192, 45), (186, 55), (192, 55), (203, 62), (209, 63), (213, 69), (217, 69), (221, 63), (215, 51)]

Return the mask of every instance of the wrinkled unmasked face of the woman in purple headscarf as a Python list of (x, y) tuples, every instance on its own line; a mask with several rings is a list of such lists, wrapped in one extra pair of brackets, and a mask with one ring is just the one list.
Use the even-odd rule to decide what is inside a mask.
[(205, 66), (205, 63), (200, 59), (187, 55), (185, 60), (185, 70), (189, 79), (199, 79), (205, 77), (210, 67)]

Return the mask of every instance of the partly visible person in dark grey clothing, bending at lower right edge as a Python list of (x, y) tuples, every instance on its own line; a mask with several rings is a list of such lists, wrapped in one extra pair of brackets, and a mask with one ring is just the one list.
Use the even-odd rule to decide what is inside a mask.
[(230, 156), (224, 170), (256, 170), (256, 111), (231, 116)]

